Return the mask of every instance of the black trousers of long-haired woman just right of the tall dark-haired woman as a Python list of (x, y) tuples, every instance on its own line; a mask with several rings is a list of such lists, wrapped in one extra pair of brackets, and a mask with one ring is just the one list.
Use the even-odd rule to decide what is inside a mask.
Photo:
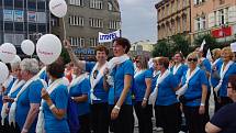
[(145, 108), (143, 108), (142, 101), (138, 101), (135, 103), (134, 109), (138, 120), (139, 133), (153, 133), (153, 106), (147, 104)]

